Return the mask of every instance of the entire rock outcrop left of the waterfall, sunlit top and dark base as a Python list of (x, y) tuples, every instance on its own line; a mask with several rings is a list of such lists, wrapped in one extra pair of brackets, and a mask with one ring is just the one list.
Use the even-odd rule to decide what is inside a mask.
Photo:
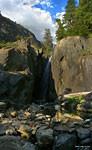
[(31, 103), (37, 75), (37, 53), (30, 40), (0, 49), (0, 101), (16, 108)]

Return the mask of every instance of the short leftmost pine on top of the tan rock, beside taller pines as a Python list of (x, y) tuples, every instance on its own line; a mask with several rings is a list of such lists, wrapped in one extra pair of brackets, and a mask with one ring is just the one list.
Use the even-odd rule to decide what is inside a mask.
[(56, 23), (57, 23), (57, 31), (56, 31), (56, 39), (57, 41), (60, 41), (62, 38), (65, 37), (65, 29), (63, 26), (63, 23), (61, 23), (61, 20), (56, 18)]

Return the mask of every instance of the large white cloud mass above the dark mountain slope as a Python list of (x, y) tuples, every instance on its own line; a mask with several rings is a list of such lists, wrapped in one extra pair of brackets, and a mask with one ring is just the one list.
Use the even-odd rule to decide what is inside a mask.
[[(31, 5), (29, 3), (23, 5), (27, 1)], [(22, 24), (32, 31), (38, 40), (43, 41), (45, 28), (49, 28), (55, 37), (56, 26), (49, 12), (32, 7), (37, 3), (39, 0), (0, 0), (0, 10), (4, 16)]]

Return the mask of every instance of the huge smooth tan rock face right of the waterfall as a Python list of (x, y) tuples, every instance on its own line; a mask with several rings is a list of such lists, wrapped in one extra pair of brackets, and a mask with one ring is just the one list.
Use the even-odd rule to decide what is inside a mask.
[(67, 37), (55, 47), (52, 75), (57, 94), (66, 88), (72, 92), (92, 90), (92, 38)]

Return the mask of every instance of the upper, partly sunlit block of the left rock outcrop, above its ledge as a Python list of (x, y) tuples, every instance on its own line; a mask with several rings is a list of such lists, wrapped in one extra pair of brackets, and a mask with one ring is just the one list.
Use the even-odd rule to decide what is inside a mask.
[(36, 64), (36, 53), (30, 45), (30, 40), (21, 40), (10, 47), (0, 49), (0, 64), (5, 71), (25, 71), (29, 69), (33, 72)]

